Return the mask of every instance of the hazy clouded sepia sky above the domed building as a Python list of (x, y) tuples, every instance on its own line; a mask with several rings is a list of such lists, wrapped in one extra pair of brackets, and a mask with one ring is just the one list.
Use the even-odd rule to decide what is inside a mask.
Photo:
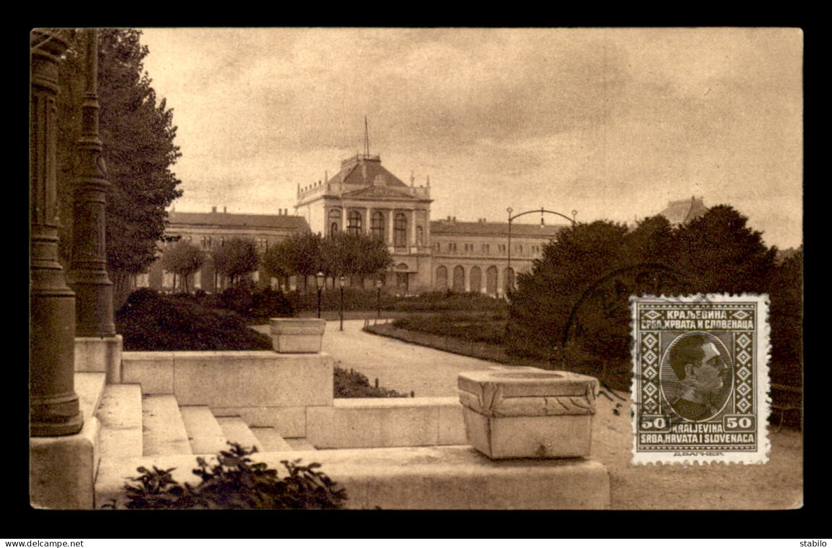
[(176, 210), (291, 208), (363, 151), (367, 116), (383, 165), (430, 177), (433, 219), (631, 223), (696, 195), (802, 241), (799, 30), (143, 32), (179, 128)]

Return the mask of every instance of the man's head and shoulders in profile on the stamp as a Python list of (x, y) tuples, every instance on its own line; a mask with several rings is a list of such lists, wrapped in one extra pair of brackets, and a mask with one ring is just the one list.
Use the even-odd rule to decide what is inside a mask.
[(719, 348), (704, 333), (692, 333), (676, 341), (669, 358), (679, 379), (676, 394), (668, 394), (671, 407), (691, 421), (713, 417), (718, 412), (714, 396), (728, 373)]

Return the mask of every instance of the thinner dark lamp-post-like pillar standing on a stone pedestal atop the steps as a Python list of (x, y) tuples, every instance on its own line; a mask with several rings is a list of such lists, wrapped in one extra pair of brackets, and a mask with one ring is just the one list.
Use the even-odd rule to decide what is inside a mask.
[(98, 38), (95, 29), (85, 31), (87, 42), (86, 87), (82, 105), (82, 130), (77, 151), (72, 230), (72, 263), (69, 283), (76, 294), (78, 337), (111, 337), (116, 334), (112, 313), (112, 282), (106, 272), (106, 190), (102, 141), (98, 137)]

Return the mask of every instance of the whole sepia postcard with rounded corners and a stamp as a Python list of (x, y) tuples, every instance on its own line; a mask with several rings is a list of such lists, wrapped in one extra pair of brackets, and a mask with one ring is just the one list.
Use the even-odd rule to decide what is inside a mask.
[(804, 506), (804, 33), (30, 32), (37, 510)]

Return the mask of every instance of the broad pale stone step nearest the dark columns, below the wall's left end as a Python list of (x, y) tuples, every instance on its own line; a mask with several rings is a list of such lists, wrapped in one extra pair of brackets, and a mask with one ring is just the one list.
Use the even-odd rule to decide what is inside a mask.
[(106, 458), (141, 457), (140, 384), (108, 384), (96, 417), (101, 422), (100, 452)]

